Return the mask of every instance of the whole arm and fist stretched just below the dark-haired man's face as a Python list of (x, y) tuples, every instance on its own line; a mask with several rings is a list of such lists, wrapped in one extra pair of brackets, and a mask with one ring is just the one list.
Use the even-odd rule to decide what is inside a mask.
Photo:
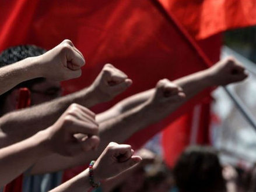
[(107, 64), (90, 87), (0, 118), (0, 147), (24, 140), (51, 126), (72, 103), (89, 108), (122, 93), (131, 83), (126, 74)]

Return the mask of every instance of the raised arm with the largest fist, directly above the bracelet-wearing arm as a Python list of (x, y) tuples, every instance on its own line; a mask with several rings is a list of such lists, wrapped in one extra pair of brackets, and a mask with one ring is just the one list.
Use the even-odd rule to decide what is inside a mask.
[[(0, 150), (0, 186), (10, 182), (26, 169), (50, 154), (72, 156), (99, 145), (99, 127), (95, 115), (83, 106), (73, 104), (48, 129)], [(87, 138), (77, 141), (74, 134)]]

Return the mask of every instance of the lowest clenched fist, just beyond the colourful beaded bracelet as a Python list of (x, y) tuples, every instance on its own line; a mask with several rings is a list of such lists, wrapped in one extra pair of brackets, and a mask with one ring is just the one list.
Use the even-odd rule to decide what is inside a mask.
[(141, 157), (133, 154), (131, 145), (111, 142), (94, 163), (94, 180), (113, 177), (141, 162)]

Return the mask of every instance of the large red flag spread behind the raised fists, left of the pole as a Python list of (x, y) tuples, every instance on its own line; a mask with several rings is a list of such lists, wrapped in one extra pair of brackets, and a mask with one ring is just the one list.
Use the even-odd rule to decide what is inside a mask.
[[(17, 44), (52, 48), (64, 38), (71, 39), (85, 55), (87, 64), (80, 79), (63, 83), (66, 93), (89, 86), (104, 63), (113, 63), (134, 84), (114, 101), (93, 108), (101, 112), (122, 98), (154, 87), (160, 79), (174, 80), (206, 69), (214, 59), (209, 60), (199, 47), (208, 48), (209, 53), (210, 49), (215, 50), (215, 55), (219, 53), (220, 44), (210, 47), (195, 42), (184, 28), (186, 25), (178, 22), (161, 3), (158, 0), (1, 1), (0, 50)], [(215, 58), (214, 54), (209, 55)], [(167, 120), (136, 133), (129, 143), (141, 147), (157, 131), (190, 112), (206, 95), (209, 91), (199, 94)]]

